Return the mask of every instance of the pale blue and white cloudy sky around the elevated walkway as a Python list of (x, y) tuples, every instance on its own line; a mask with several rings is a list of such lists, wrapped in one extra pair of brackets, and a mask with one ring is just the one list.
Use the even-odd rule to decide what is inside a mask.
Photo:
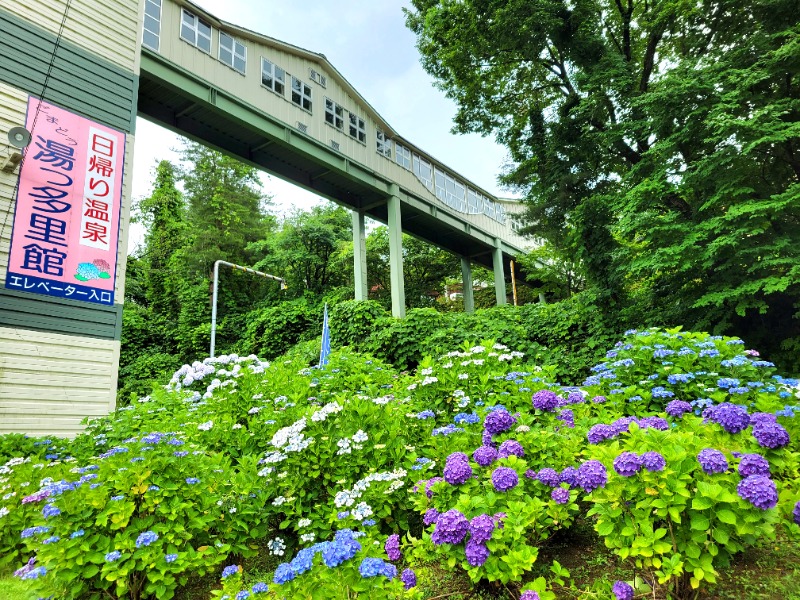
[[(403, 137), (487, 191), (509, 196), (497, 184), (506, 150), (490, 138), (450, 133), (455, 104), (433, 87), (419, 64), (414, 34), (406, 29), (405, 0), (197, 0), (224, 21), (324, 54)], [(166, 35), (166, 32), (163, 32)], [(177, 32), (175, 32), (177, 35)], [(248, 65), (252, 68), (252, 65)], [(137, 119), (133, 197), (150, 194), (152, 168), (172, 152), (178, 137)], [(266, 174), (264, 192), (281, 211), (309, 208), (316, 195)], [(142, 241), (131, 230), (129, 252)]]

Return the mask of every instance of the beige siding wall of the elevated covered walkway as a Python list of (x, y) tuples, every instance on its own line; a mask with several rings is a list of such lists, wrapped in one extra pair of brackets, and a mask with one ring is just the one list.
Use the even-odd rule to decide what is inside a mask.
[[(174, 0), (164, 0), (162, 6), (159, 54), (168, 60), (178, 64), (187, 71), (195, 73), (228, 94), (240, 98), (256, 109), (276, 117), (289, 127), (297, 128), (298, 124), (304, 125), (307, 128), (306, 132), (308, 135), (317, 139), (325, 146), (331, 147), (331, 142), (336, 142), (339, 151), (343, 155), (370, 168), (380, 176), (396, 182), (401, 188), (409, 190), (414, 195), (427, 199), (437, 207), (437, 210), (472, 223), (492, 236), (502, 237), (509, 242), (512, 240), (520, 240), (519, 236), (516, 236), (512, 232), (510, 220), (507, 220), (506, 223), (503, 224), (482, 214), (469, 215), (460, 213), (439, 201), (436, 195), (425, 187), (411, 171), (404, 169), (395, 162), (394, 147), (392, 149), (393, 154), (391, 159), (378, 154), (375, 132), (377, 129), (385, 131), (385, 127), (381, 126), (376, 119), (371, 116), (374, 114), (374, 111), (369, 110), (368, 107), (364, 106), (361, 101), (354, 97), (357, 96), (357, 93), (353, 94), (351, 89), (348, 89), (339, 82), (334, 74), (330, 72), (330, 68), (326, 67), (326, 63), (322, 59), (319, 61), (312, 60), (306, 58), (307, 55), (303, 55), (301, 52), (293, 53), (291, 50), (288, 50), (286, 46), (273, 46), (268, 43), (268, 40), (259, 43), (251, 38), (245, 39), (235, 30), (226, 30), (226, 33), (233, 36), (234, 39), (244, 44), (247, 48), (247, 67), (243, 75), (217, 59), (219, 55), (220, 30), (219, 27), (215, 25), (215, 21), (211, 20), (210, 22), (212, 25), (211, 52), (206, 53), (180, 37), (181, 12), (184, 5)], [(200, 16), (204, 20), (208, 20), (202, 13), (198, 12), (196, 8), (189, 5), (185, 5), (185, 8), (192, 14)], [(263, 33), (279, 35), (279, 32)], [(321, 44), (324, 42), (316, 43)], [(314, 48), (313, 50), (321, 50), (324, 52), (324, 48)], [(261, 85), (262, 57), (286, 71), (286, 80), (284, 82), (286, 89), (282, 97)], [(326, 87), (322, 87), (319, 83), (311, 80), (311, 69), (314, 69), (326, 77)], [(292, 103), (292, 75), (311, 87), (313, 101), (311, 113)], [(343, 131), (339, 131), (325, 121), (326, 97), (345, 109)], [(367, 134), (366, 144), (358, 142), (349, 135), (349, 112), (364, 119)], [(405, 140), (400, 140), (400, 142), (404, 146), (411, 148), (417, 154), (425, 157), (430, 162), (437, 164), (437, 161), (433, 157), (415, 148), (413, 143), (409, 143)], [(446, 157), (441, 158), (446, 159)], [(445, 167), (445, 165), (441, 163), (439, 163), (439, 166)], [(471, 184), (466, 179), (465, 175), (459, 174), (452, 169), (444, 168), (443, 170), (455, 176), (456, 179), (463, 182), (466, 186), (474, 189), (476, 188), (483, 195), (491, 197), (491, 194)]]

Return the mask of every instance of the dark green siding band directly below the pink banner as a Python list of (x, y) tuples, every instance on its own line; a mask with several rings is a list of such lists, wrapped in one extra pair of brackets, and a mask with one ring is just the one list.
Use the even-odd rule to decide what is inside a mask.
[(122, 305), (102, 306), (0, 288), (0, 326), (118, 340)]

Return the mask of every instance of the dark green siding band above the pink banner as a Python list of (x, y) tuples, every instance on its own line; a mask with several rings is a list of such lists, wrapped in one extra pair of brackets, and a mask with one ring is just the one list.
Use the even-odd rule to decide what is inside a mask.
[[(0, 9), (0, 81), (42, 93), (56, 36)], [(61, 40), (47, 83), (47, 100), (109, 127), (134, 133), (138, 77)]]

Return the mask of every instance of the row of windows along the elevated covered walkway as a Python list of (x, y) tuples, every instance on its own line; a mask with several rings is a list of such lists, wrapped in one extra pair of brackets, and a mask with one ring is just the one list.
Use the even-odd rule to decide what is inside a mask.
[[(142, 43), (156, 51), (159, 50), (161, 35), (161, 3), (162, 0), (145, 0)], [(211, 54), (211, 25), (185, 8), (181, 9), (180, 35), (184, 41)], [(234, 37), (220, 31), (217, 58), (220, 62), (244, 75), (247, 68), (247, 47)], [(312, 73), (313, 75), (314, 73)], [(315, 81), (321, 83), (319, 79), (322, 77), (324, 76), (317, 74)], [(285, 98), (287, 79), (290, 79), (292, 103), (303, 110), (312, 112), (311, 86), (294, 75), (289, 75), (267, 58), (261, 57), (262, 86)], [(324, 87), (325, 84), (322, 83), (322, 85)], [(327, 97), (325, 98), (325, 122), (341, 132), (347, 132), (358, 142), (367, 143), (367, 127), (364, 119)], [(447, 206), (461, 213), (484, 214), (500, 223), (506, 222), (505, 209), (502, 206), (480, 192), (466, 187), (453, 175), (435, 167), (426, 158), (412, 152), (410, 148), (400, 142), (391, 140), (384, 132), (376, 131), (375, 143), (378, 154), (391, 160), (394, 152), (394, 161), (404, 169), (413, 172), (417, 179)]]

